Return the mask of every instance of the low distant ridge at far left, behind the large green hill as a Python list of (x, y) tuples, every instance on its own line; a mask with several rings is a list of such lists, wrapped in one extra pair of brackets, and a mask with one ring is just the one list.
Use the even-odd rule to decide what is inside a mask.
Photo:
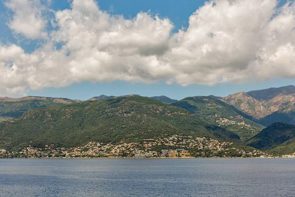
[(80, 102), (80, 100), (51, 97), (22, 97), (18, 99), (0, 97), (0, 118), (17, 118), (29, 110), (64, 106), (76, 102)]

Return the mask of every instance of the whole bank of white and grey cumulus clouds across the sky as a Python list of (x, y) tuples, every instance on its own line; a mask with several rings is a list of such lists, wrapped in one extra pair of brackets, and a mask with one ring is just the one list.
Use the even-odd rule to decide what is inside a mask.
[[(25, 12), (8, 5), (16, 1), (6, 2), (15, 9), (12, 29)], [(57, 29), (45, 31), (47, 8), (40, 0), (24, 1), (30, 2), (26, 12), (31, 9), (43, 25), (31, 33), (13, 30), (28, 38), (46, 33), (47, 42), (31, 54), (0, 46), (2, 95), (83, 81), (166, 80), (186, 86), (295, 77), (293, 1), (278, 8), (276, 0), (211, 0), (177, 33), (168, 18), (140, 12), (126, 19), (100, 10), (94, 0), (73, 0), (70, 9), (54, 12)]]

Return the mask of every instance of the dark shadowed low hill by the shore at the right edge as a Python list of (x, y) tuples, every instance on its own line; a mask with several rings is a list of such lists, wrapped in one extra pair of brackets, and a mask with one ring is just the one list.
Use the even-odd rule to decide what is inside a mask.
[(295, 126), (273, 123), (246, 141), (246, 145), (276, 154), (295, 153)]

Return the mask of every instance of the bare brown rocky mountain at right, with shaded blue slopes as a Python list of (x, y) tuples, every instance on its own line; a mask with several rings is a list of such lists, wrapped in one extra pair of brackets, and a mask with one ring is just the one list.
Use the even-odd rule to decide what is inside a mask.
[(221, 100), (253, 116), (264, 126), (274, 122), (295, 124), (295, 87), (239, 92)]

